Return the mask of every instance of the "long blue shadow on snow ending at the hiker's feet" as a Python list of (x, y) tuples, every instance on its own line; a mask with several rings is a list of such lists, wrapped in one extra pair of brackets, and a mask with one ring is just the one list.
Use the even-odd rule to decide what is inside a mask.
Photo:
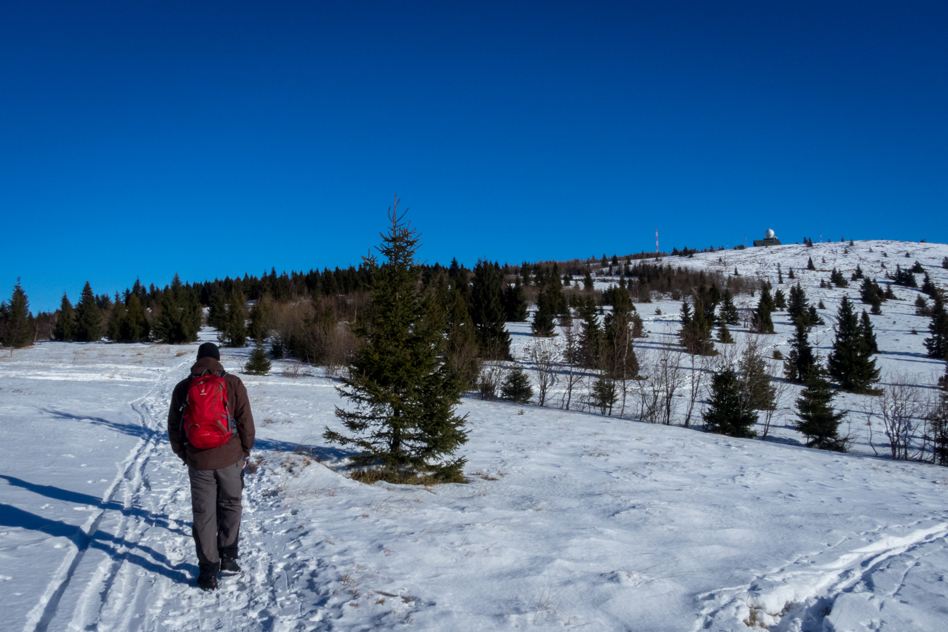
[[(20, 529), (46, 533), (52, 537), (65, 537), (76, 545), (76, 548), (80, 551), (98, 549), (107, 553), (116, 562), (128, 561), (149, 572), (164, 575), (174, 582), (182, 584), (189, 583), (191, 576), (197, 573), (196, 565), (183, 563), (173, 565), (171, 560), (150, 547), (129, 542), (101, 530), (86, 535), (82, 533), (82, 529), (78, 526), (66, 524), (61, 520), (50, 520), (42, 515), (30, 514), (11, 505), (0, 504), (0, 526), (19, 527)], [(143, 554), (133, 552), (136, 550)], [(152, 559), (148, 559), (144, 555), (148, 555)]]

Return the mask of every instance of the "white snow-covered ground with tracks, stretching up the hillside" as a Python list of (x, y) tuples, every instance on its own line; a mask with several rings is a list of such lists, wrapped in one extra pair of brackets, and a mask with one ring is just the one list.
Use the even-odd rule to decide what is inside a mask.
[[(834, 265), (848, 276), (859, 262), (882, 280), (880, 262), (918, 259), (948, 284), (943, 244), (844, 247), (666, 261), (774, 281), (776, 262), (792, 265), (828, 323), (844, 290), (818, 283)], [(801, 272), (808, 256), (825, 271)], [(872, 317), (877, 357), (884, 375), (931, 384), (944, 364), (924, 357), (917, 291), (896, 294), (906, 300)], [(646, 366), (678, 306), (637, 305), (651, 330), (637, 348)], [(776, 314), (767, 336), (784, 352), (785, 321)], [(534, 339), (525, 324), (510, 329), (520, 355)], [(825, 355), (830, 324), (820, 329)], [(468, 484), (365, 485), (321, 440), (337, 427), (337, 382), (284, 376), (283, 363), (243, 376), (258, 430), (245, 571), (203, 593), (188, 476), (164, 432), (195, 351), (45, 342), (0, 358), (0, 630), (895, 632), (948, 620), (948, 468), (875, 457), (867, 398), (836, 401), (860, 433), (852, 454), (802, 447), (787, 410), (762, 442), (467, 398)], [(225, 367), (240, 370), (248, 351), (223, 350)]]

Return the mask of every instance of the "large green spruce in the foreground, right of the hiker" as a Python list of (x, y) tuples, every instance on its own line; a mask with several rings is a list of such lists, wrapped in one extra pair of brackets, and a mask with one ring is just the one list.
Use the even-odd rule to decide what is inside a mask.
[(351, 434), (327, 427), (323, 438), (359, 448), (357, 463), (461, 480), (465, 459), (452, 456), (467, 441), (465, 418), (455, 414), (462, 380), (444, 360), (445, 311), (416, 287), (418, 234), (396, 209), (378, 248), (385, 262), (364, 262), (373, 270), (372, 309), (353, 328), (361, 344), (338, 389), (354, 406), (336, 408)]

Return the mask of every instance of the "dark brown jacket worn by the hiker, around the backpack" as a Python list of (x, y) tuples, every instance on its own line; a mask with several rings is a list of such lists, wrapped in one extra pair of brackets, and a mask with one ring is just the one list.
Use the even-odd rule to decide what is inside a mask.
[[(191, 366), (191, 375), (200, 375), (204, 370), (216, 373), (224, 370), (224, 367), (214, 358), (203, 357)], [(232, 373), (224, 376), (224, 383), (228, 388), (230, 415), (237, 420), (237, 432), (224, 445), (204, 450), (185, 442), (184, 433), (181, 431), (181, 405), (188, 395), (191, 378), (181, 380), (174, 387), (172, 406), (168, 409), (168, 439), (172, 443), (174, 454), (197, 470), (216, 470), (233, 465), (241, 459), (249, 458), (250, 448), (253, 447), (256, 430), (253, 427), (250, 400), (246, 396), (244, 383)]]

